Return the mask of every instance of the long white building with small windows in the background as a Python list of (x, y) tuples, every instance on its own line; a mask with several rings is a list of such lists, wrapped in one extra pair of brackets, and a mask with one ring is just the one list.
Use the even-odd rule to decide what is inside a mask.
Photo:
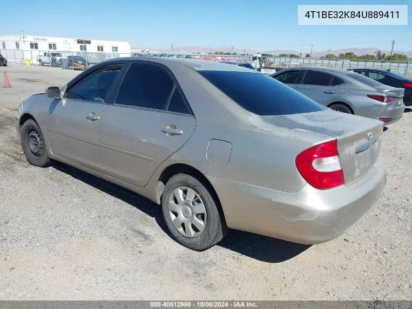
[(25, 59), (36, 61), (36, 56), (47, 51), (57, 51), (63, 56), (83, 54), (111, 54), (108, 57), (128, 57), (131, 53), (130, 42), (54, 38), (25, 35), (0, 35), (0, 54), (8, 62), (24, 62)]

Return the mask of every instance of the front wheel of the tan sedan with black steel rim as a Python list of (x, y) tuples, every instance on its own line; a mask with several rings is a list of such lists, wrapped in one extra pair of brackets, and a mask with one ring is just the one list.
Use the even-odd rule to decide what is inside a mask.
[(31, 165), (39, 167), (50, 165), (43, 134), (32, 119), (27, 120), (21, 127), (21, 146), (27, 161)]

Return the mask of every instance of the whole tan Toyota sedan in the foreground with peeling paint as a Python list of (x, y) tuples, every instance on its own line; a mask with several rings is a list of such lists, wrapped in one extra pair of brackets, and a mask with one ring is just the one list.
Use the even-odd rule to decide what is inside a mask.
[(29, 163), (58, 160), (147, 197), (195, 250), (228, 228), (326, 242), (367, 214), (386, 183), (382, 122), (218, 62), (100, 62), (26, 98), (16, 129)]

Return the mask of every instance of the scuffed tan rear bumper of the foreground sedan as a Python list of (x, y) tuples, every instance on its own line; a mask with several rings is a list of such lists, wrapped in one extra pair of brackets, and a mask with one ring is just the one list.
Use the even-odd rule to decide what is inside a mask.
[(380, 198), (386, 166), (378, 160), (349, 186), (295, 193), (207, 176), (219, 196), (228, 227), (302, 244), (334, 239), (361, 220)]

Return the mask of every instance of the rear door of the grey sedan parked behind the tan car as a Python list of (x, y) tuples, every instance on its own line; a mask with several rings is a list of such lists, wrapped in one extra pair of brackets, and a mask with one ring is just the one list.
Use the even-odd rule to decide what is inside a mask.
[(332, 74), (307, 70), (302, 83), (296, 85), (295, 89), (317, 103), (326, 106), (339, 97), (344, 83), (345, 81), (334, 77)]

